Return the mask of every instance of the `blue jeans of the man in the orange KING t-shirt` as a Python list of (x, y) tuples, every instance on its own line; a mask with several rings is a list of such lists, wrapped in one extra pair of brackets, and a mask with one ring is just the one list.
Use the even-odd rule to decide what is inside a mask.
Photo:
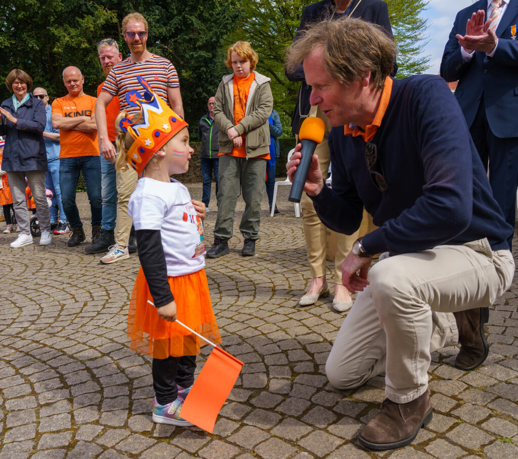
[(82, 171), (84, 181), (87, 184), (92, 226), (99, 226), (103, 218), (99, 156), (60, 158), (60, 187), (63, 210), (71, 227), (83, 226), (76, 205), (76, 188), (80, 171)]

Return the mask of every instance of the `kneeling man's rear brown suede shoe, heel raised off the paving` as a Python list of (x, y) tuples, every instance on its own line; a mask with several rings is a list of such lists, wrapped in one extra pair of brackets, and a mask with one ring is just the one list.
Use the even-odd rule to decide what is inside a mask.
[(484, 363), (489, 346), (484, 332), (484, 324), (489, 320), (489, 308), (474, 308), (454, 312), (457, 322), (458, 342), (461, 350), (455, 358), (459, 370), (474, 370)]

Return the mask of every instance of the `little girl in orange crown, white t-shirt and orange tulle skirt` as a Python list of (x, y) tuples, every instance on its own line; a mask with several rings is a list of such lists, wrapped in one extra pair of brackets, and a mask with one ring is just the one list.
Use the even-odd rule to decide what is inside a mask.
[(141, 177), (128, 205), (141, 263), (128, 338), (133, 350), (153, 356), (153, 421), (189, 426), (180, 415), (194, 382), (200, 340), (174, 322), (178, 317), (212, 342), (221, 342), (204, 269), (205, 205), (170, 178), (189, 168), (193, 149), (187, 123), (137, 78), (146, 92), (130, 91), (126, 100), (140, 113), (131, 119), (123, 112), (116, 122), (116, 168), (129, 164)]

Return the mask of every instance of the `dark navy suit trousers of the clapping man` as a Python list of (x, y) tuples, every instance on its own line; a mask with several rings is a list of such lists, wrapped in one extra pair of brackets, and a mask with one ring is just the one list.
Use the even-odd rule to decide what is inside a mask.
[[(514, 228), (518, 188), (518, 137), (500, 138), (493, 134), (486, 119), (484, 99), (480, 102), (469, 133), (486, 171), (489, 165), (489, 181), (493, 197), (502, 209), (506, 222)], [(509, 247), (511, 247), (512, 238), (512, 235), (509, 236)]]

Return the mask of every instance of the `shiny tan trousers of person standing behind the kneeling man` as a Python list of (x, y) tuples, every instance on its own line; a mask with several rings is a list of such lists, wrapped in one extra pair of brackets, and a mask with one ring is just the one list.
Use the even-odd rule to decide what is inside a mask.
[[(331, 130), (327, 117), (322, 113), (319, 107), (311, 107), (310, 116), (316, 116), (325, 123), (324, 140), (315, 149), (315, 154), (319, 157), (320, 171), (322, 177), (327, 177), (329, 169), (329, 146), (327, 144), (327, 135)], [(298, 137), (296, 136), (298, 143)], [(326, 274), (326, 226), (320, 221), (315, 212), (312, 200), (306, 193), (302, 194), (300, 199), (302, 208), (302, 223), (304, 227), (304, 236), (306, 238), (306, 247), (308, 248), (308, 262), (311, 271), (311, 277), (322, 277)], [(358, 232), (347, 236), (338, 233), (336, 237), (336, 254), (335, 254), (335, 281), (336, 284), (342, 283), (342, 262), (352, 249), (354, 241), (358, 238)]]

